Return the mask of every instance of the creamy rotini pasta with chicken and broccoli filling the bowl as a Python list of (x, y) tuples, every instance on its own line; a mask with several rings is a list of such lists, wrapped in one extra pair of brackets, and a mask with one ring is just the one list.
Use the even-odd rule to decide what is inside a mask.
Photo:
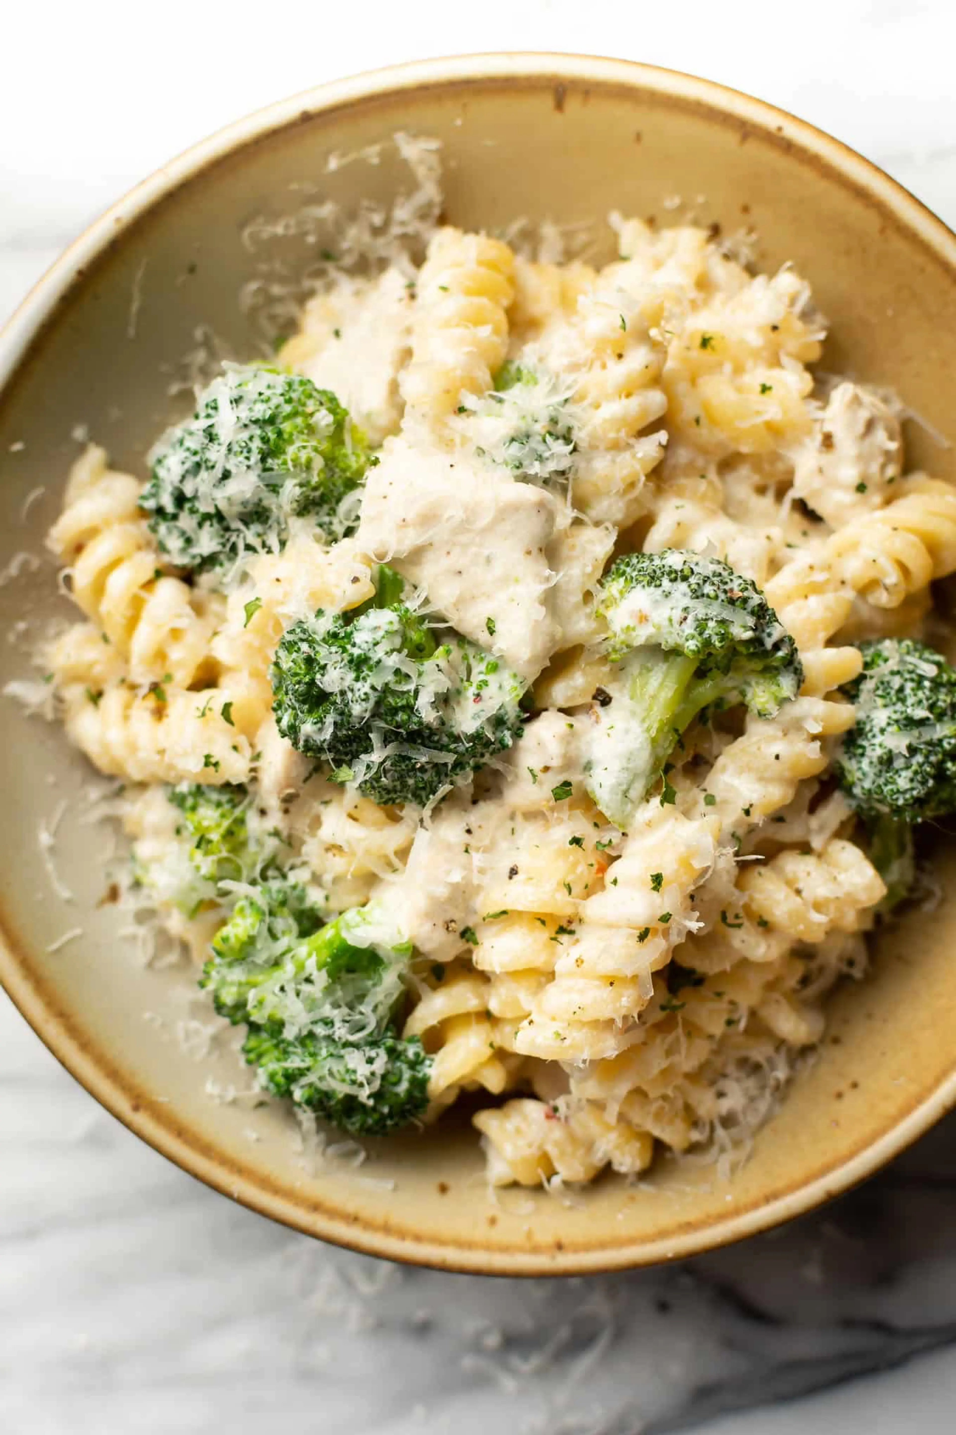
[(265, 1093), (496, 1185), (740, 1148), (956, 805), (956, 489), (791, 267), (434, 227), (89, 446), (47, 664)]

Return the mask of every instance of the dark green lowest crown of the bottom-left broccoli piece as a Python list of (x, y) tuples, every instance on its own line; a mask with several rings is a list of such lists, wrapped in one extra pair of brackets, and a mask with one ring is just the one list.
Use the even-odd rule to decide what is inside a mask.
[(315, 1033), (288, 1039), (249, 1030), (242, 1053), (275, 1096), (290, 1096), (354, 1137), (387, 1137), (429, 1104), (431, 1058), (417, 1036), (343, 1046)]

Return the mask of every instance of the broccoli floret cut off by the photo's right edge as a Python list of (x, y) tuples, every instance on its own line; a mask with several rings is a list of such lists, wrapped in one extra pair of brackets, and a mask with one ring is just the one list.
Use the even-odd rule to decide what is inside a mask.
[(956, 811), (956, 670), (916, 639), (860, 644), (863, 672), (843, 687), (856, 726), (834, 768), (863, 818), (886, 908), (913, 885), (913, 828)]

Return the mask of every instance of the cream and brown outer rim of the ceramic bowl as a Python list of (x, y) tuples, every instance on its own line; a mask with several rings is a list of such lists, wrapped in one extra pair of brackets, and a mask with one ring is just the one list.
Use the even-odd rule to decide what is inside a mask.
[[(715, 122), (732, 122), (742, 133), (750, 128), (777, 141), (781, 149), (795, 152), (798, 159), (826, 169), (833, 178), (856, 189), (866, 202), (879, 204), (889, 211), (889, 217), (910, 237), (922, 240), (956, 280), (956, 234), (927, 205), (849, 145), (767, 100), (681, 70), (605, 56), (550, 52), (443, 56), (365, 70), (277, 100), (215, 131), (142, 179), (63, 251), (0, 329), (0, 395), (34, 343), (56, 320), (57, 310), (83, 280), (89, 265), (153, 205), (232, 152), (265, 141), (298, 122), (371, 98), (386, 98), (408, 89), (441, 90), (487, 82), (530, 82), (537, 86), (550, 82), (558, 109), (563, 108), (570, 83), (583, 88), (591, 83), (644, 89), (658, 100), (704, 110)], [(206, 1145), (188, 1122), (179, 1122), (149, 1093), (138, 1091), (109, 1053), (77, 1030), (69, 1012), (56, 999), (52, 984), (39, 973), (30, 973), (26, 953), (17, 953), (19, 946), (0, 911), (0, 986), (60, 1065), (161, 1155), (221, 1194), (307, 1236), (363, 1254), (440, 1270), (502, 1276), (589, 1274), (652, 1266), (715, 1250), (793, 1220), (847, 1191), (909, 1147), (956, 1105), (955, 1072), (881, 1137), (851, 1152), (828, 1172), (764, 1203), (755, 1203), (750, 1210), (689, 1225), (687, 1231), (666, 1238), (603, 1250), (556, 1253), (451, 1247), (427, 1237), (396, 1234), (387, 1225), (355, 1225), (344, 1220), (341, 1211), (324, 1208), (314, 1200), (295, 1204), (278, 1185), (269, 1185), (252, 1165), (229, 1162), (221, 1151)]]

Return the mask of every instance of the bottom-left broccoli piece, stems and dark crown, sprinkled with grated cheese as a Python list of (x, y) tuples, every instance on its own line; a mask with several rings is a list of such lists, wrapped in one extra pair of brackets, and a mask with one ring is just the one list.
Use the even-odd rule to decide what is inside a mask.
[(393, 1025), (411, 946), (376, 904), (320, 920), (281, 887), (244, 898), (201, 986), (221, 1016), (248, 1025), (242, 1050), (268, 1091), (344, 1131), (384, 1135), (427, 1104), (431, 1058)]

